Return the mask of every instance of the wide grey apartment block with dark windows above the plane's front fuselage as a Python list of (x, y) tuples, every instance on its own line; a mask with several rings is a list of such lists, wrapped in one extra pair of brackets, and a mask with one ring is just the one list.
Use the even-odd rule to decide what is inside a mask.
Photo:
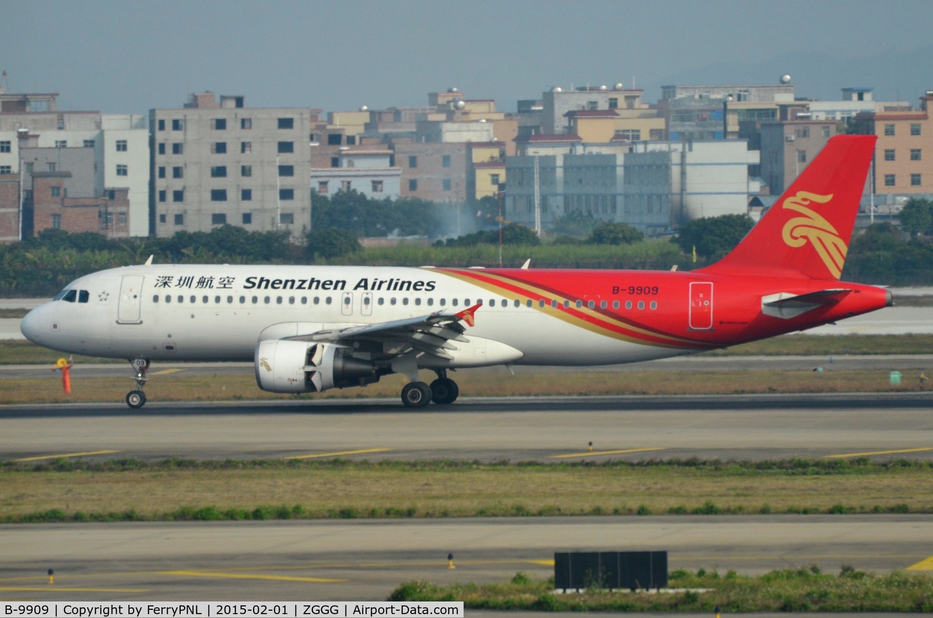
[(245, 107), (244, 97), (192, 94), (149, 112), (150, 224), (158, 236), (219, 225), (284, 230), (310, 225), (312, 127), (321, 110)]

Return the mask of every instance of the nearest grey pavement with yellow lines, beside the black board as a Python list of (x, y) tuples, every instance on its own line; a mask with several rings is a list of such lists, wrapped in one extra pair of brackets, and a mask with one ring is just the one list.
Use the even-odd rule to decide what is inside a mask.
[(491, 583), (519, 570), (546, 578), (553, 552), (606, 548), (666, 549), (672, 570), (903, 569), (933, 554), (933, 517), (63, 524), (2, 527), (0, 545), (0, 598), (375, 600), (411, 579)]

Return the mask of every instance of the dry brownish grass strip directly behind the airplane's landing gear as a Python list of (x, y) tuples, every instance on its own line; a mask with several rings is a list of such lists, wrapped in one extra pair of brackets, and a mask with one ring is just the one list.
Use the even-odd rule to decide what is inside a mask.
[[(127, 372), (129, 374), (129, 371)], [(426, 378), (427, 375), (422, 376)], [(464, 396), (508, 397), (534, 395), (702, 395), (722, 393), (824, 393), (919, 390), (918, 381), (905, 375), (904, 383), (891, 386), (888, 374), (878, 370), (833, 370), (826, 372), (790, 370), (747, 371), (644, 371), (644, 372), (522, 372), (466, 371), (454, 376)], [(396, 398), (405, 383), (390, 375), (363, 388), (328, 390), (313, 399), (361, 397)], [(72, 394), (64, 395), (61, 379), (0, 380), (0, 403), (62, 403), (123, 400), (133, 387), (126, 378), (81, 378), (72, 380)], [(157, 376), (146, 385), (150, 400), (275, 400), (294, 396), (266, 393), (251, 376), (186, 376), (184, 373)]]

